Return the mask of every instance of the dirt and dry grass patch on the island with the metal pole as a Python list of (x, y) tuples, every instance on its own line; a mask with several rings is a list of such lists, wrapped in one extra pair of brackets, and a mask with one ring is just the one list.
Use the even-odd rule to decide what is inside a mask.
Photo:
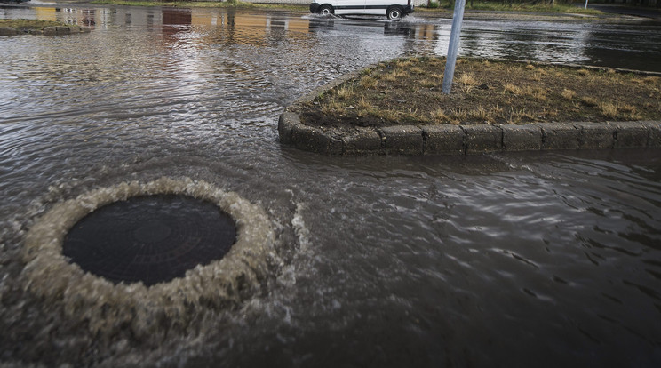
[(658, 74), (460, 59), (444, 94), (444, 64), (428, 57), (382, 62), (291, 110), (303, 124), (334, 129), (661, 120)]

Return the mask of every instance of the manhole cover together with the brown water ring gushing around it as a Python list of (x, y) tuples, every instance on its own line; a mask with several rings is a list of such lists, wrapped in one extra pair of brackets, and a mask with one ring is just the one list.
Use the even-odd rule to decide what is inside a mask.
[(262, 291), (282, 264), (275, 244), (264, 208), (235, 192), (187, 178), (124, 181), (35, 220), (22, 287), (91, 331), (130, 324), (144, 336), (161, 331), (156, 316), (182, 325)]

